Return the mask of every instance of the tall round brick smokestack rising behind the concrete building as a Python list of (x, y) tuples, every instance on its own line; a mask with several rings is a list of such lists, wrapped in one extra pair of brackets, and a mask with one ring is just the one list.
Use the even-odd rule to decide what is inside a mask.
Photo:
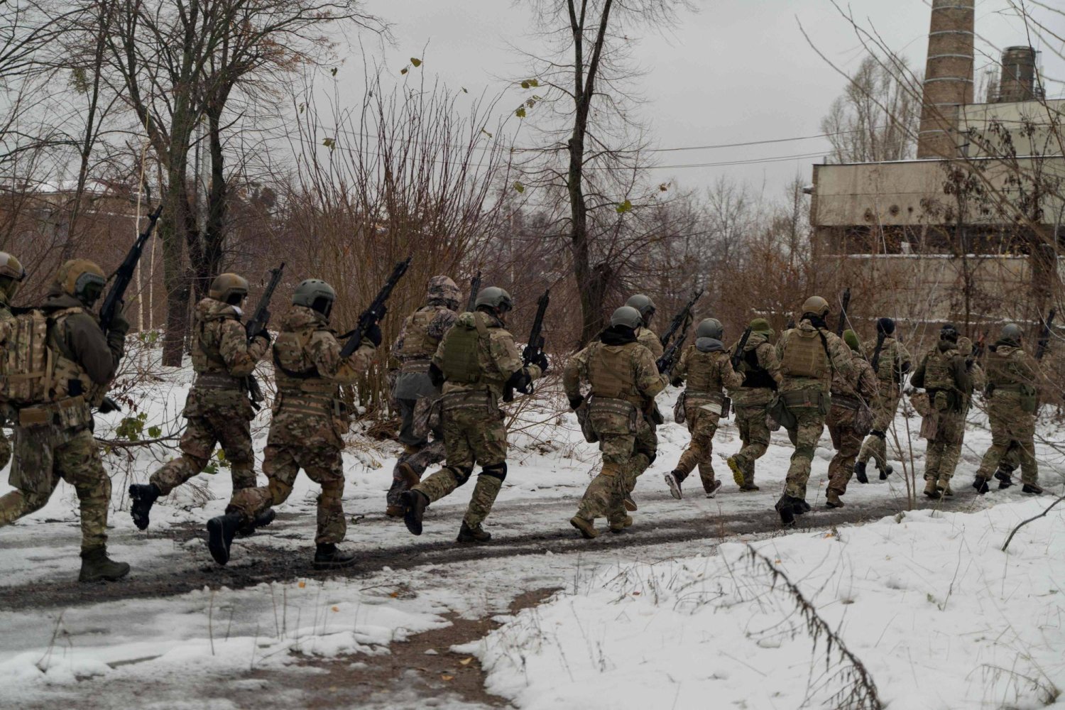
[(917, 158), (953, 158), (957, 106), (972, 103), (973, 0), (932, 0)]

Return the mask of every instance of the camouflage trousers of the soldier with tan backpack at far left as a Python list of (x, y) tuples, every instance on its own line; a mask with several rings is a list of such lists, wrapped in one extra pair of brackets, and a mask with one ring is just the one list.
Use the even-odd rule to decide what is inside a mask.
[(88, 429), (15, 427), (15, 456), (9, 482), (15, 491), (0, 497), (0, 527), (40, 510), (60, 479), (73, 486), (81, 509), (81, 548), (108, 542), (111, 479)]

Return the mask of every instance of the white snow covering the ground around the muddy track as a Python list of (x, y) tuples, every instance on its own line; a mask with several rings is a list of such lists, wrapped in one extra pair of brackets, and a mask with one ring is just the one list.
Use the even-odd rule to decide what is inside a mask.
[[(144, 414), (141, 436), (180, 431), (191, 379), (182, 369), (131, 392)], [(676, 394), (660, 397), (667, 418)], [(101, 417), (98, 435), (113, 439), (129, 415)], [(260, 461), (267, 424), (265, 413), (255, 424)], [(920, 469), (919, 420), (908, 420), (912, 451), (906, 425), (902, 416), (896, 422), (905, 456), (896, 452), (895, 466), (901, 470), (904, 460)], [(1019, 518), (1052, 499), (1034, 500), (1019, 486), (973, 495), (969, 482), (989, 443), (985, 426), (974, 414), (953, 499), (895, 517), (906, 508), (903, 479), (880, 481), (873, 473), (869, 485), (852, 482), (845, 511), (868, 511), (875, 522), (838, 527), (843, 513), (823, 509), (832, 457), (825, 432), (809, 483), (815, 512), (802, 518), (809, 527), (782, 535), (772, 505), (790, 455), (786, 434), (775, 433), (759, 461), (761, 491), (744, 494), (724, 465), (739, 441), (733, 423), (723, 423), (715, 467), (724, 488), (706, 499), (697, 476), (690, 495), (675, 501), (662, 473), (688, 436), (669, 423), (659, 429), (658, 460), (634, 494), (640, 510), (632, 531), (586, 542), (568, 519), (597, 468), (594, 446), (580, 440), (571, 414), (528, 408), (513, 427), (510, 473), (487, 523), (493, 545), (461, 548), (460, 557), (453, 541), (472, 489), (435, 505), (425, 534), (413, 538), (402, 521), (383, 516), (398, 449), (356, 432), (345, 452), (345, 545), (367, 562), (333, 579), (311, 571), (317, 490), (306, 477), (278, 521), (239, 539), (230, 565), (218, 568), (193, 532), (224, 510), (228, 472), (200, 475), (161, 500), (141, 532), (126, 488), (170, 453), (116, 447), (105, 460), (114, 483), (109, 548), (133, 565), (127, 588), (185, 576), (203, 579), (202, 588), (109, 601), (109, 593), (122, 596), (119, 582), (94, 585), (83, 599), (27, 605), (27, 590), (78, 589), (77, 500), (61, 484), (45, 509), (0, 530), (0, 708), (58, 707), (101, 688), (114, 701), (95, 697), (91, 707), (244, 707), (234, 694), (263, 688), (264, 673), (285, 680), (260, 707), (304, 707), (300, 679), (323, 659), (355, 667), (456, 617), (492, 616), (506, 623), (461, 650), (482, 662), (487, 690), (502, 696), (496, 706), (798, 708), (812, 699), (810, 707), (837, 707), (820, 704), (849, 690), (854, 664), (823, 633), (815, 645), (809, 620), (772, 569), (839, 634), (885, 707), (1047, 707), (1065, 688), (1058, 532), (1065, 511), (1026, 527), (1007, 554), (998, 550)], [(1043, 432), (1056, 435), (1049, 424)], [(1060, 492), (1060, 458), (1043, 445), (1038, 453), (1044, 485)], [(248, 583), (241, 576), (278, 558), (288, 566), (277, 579)], [(511, 599), (534, 590), (562, 591), (508, 615)], [(155, 692), (144, 697), (135, 689), (146, 678)], [(435, 693), (436, 707), (481, 707), (446, 686)], [(419, 699), (382, 695), (360, 707), (419, 707)]]

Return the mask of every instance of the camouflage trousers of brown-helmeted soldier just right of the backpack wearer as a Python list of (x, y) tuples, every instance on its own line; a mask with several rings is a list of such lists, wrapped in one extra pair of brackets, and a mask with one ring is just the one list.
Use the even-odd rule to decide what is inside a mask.
[(255, 457), (251, 453), (251, 423), (231, 409), (219, 409), (201, 416), (190, 416), (181, 434), (181, 456), (171, 459), (151, 475), (163, 495), (200, 474), (211, 461), (215, 444), (222, 444), (230, 463), (233, 491), (255, 488)]

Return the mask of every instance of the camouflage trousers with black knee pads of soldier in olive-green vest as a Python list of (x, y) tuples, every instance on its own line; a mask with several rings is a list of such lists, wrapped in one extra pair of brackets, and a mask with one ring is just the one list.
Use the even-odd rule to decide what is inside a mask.
[(445, 409), (443, 413), (446, 465), (412, 490), (432, 503), (464, 484), (476, 464), (480, 474), (474, 485), (463, 521), (477, 528), (495, 503), (507, 478), (507, 428), (503, 412), (494, 406)]

